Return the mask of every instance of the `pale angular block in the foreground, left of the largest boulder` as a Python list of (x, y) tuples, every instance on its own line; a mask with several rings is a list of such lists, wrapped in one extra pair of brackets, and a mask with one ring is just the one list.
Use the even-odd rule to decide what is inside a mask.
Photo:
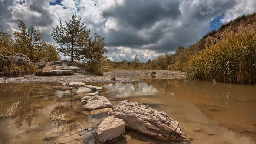
[(122, 119), (108, 117), (93, 132), (95, 140), (100, 143), (112, 141), (125, 133), (125, 123)]

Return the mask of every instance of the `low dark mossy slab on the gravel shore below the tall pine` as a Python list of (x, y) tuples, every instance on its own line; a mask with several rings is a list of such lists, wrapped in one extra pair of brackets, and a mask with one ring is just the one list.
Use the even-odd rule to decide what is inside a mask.
[(74, 72), (71, 70), (50, 70), (50, 71), (38, 71), (35, 73), (36, 76), (63, 76), (63, 75), (74, 75)]

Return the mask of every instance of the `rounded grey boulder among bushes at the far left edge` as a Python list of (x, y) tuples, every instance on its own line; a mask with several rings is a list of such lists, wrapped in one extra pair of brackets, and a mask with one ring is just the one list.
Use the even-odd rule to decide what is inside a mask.
[(0, 64), (10, 65), (11, 62), (14, 62), (17, 66), (20, 65), (30, 65), (33, 66), (30, 58), (22, 53), (7, 53), (5, 55), (0, 56)]

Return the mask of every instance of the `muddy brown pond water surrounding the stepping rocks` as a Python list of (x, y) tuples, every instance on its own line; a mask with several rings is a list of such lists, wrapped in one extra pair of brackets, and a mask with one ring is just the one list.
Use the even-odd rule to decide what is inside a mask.
[[(102, 86), (100, 95), (113, 105), (130, 100), (166, 112), (193, 138), (192, 144), (256, 144), (256, 85), (140, 79), (88, 84)], [(78, 141), (75, 134), (100, 123), (107, 113), (91, 115), (74, 95), (75, 89), (56, 83), (0, 84), (0, 144), (94, 144), (93, 137)], [(56, 130), (62, 132), (45, 138)], [(131, 140), (117, 144), (160, 144), (142, 134), (126, 134)]]

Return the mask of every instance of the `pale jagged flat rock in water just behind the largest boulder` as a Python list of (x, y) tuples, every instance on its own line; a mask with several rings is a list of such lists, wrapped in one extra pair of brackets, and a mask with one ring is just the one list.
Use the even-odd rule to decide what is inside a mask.
[(104, 96), (85, 96), (81, 99), (82, 103), (85, 104), (83, 107), (88, 110), (111, 108), (112, 104)]

